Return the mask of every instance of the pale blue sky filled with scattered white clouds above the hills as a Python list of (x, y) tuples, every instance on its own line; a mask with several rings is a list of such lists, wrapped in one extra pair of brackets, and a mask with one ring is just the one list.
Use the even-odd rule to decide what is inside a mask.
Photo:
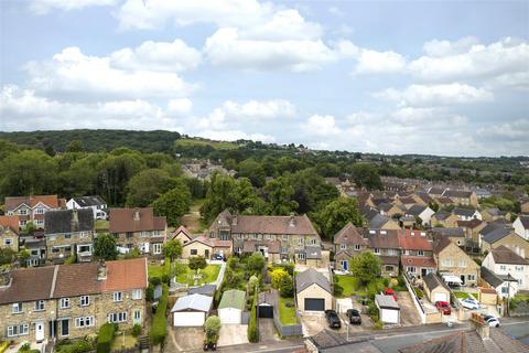
[(0, 0), (0, 130), (529, 156), (529, 1)]

